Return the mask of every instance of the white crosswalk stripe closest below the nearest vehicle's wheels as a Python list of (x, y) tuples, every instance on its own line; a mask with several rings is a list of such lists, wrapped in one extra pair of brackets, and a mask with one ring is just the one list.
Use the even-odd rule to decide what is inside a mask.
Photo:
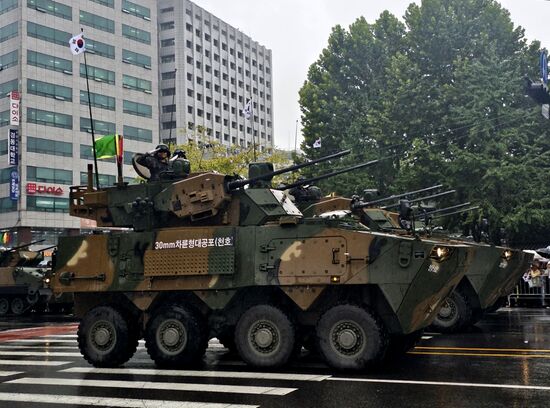
[(147, 368), (86, 368), (71, 367), (61, 372), (80, 374), (130, 374), (158, 375), (171, 377), (209, 377), (209, 378), (254, 378), (258, 380), (289, 380), (289, 381), (324, 381), (330, 375), (290, 374), (290, 373), (256, 373), (239, 371), (198, 371), (198, 370), (156, 370)]

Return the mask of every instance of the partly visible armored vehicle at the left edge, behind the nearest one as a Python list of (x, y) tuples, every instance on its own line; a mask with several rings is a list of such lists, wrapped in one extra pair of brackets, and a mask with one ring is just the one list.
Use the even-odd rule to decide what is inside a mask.
[(43, 309), (51, 296), (44, 283), (48, 268), (39, 265), (43, 254), (29, 245), (0, 250), (0, 316)]

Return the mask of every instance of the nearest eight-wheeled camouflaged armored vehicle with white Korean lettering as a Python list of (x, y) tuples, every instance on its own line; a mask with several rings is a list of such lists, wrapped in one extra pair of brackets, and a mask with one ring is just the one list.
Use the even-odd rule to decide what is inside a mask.
[(276, 367), (313, 335), (330, 366), (362, 369), (417, 336), (462, 279), (467, 246), (307, 218), (270, 186), (344, 153), (252, 164), (244, 180), (205, 172), (103, 189), (89, 169), (71, 214), (129, 230), (59, 239), (53, 289), (74, 292), (84, 358), (119, 366), (144, 337), (158, 366), (182, 367), (219, 337), (247, 364)]

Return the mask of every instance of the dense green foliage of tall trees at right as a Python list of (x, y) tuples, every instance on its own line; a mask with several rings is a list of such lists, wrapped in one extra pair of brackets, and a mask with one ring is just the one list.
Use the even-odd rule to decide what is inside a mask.
[(471, 201), (515, 242), (550, 240), (548, 123), (523, 91), (539, 43), (494, 0), (424, 0), (404, 21), (384, 12), (335, 27), (309, 69), (306, 156), (351, 148), (353, 163), (381, 159), (322, 187), (386, 195), (444, 183), (458, 194), (442, 206)]

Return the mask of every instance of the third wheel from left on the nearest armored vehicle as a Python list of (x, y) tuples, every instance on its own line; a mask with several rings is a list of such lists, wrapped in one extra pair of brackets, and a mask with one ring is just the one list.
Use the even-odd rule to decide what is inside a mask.
[(254, 367), (280, 367), (294, 351), (294, 325), (280, 309), (257, 305), (243, 313), (235, 328), (241, 358)]

